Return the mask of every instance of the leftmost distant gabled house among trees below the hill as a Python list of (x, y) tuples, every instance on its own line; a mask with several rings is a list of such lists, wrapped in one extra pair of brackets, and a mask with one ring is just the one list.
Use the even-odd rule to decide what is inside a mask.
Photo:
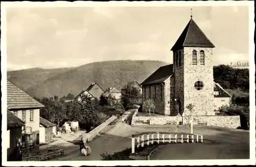
[(86, 90), (81, 91), (74, 99), (81, 101), (82, 95), (99, 99), (103, 93), (104, 90), (97, 83), (92, 83)]

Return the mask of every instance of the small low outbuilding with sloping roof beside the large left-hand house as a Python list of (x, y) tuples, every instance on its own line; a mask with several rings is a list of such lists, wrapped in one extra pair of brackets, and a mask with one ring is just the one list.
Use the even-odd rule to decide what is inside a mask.
[(53, 135), (56, 134), (55, 124), (47, 121), (45, 118), (40, 117), (40, 144), (48, 143), (53, 141)]

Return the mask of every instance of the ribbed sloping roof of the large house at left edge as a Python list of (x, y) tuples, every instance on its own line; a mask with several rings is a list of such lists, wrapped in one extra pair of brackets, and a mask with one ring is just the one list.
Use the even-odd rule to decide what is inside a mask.
[(45, 107), (34, 100), (27, 93), (17, 88), (11, 82), (7, 81), (7, 108), (12, 109), (29, 109)]

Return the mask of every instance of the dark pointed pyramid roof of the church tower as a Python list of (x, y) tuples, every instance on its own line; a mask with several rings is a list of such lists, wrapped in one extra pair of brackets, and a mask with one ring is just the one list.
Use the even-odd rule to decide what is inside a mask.
[(171, 51), (179, 50), (184, 46), (215, 47), (192, 18), (172, 47)]

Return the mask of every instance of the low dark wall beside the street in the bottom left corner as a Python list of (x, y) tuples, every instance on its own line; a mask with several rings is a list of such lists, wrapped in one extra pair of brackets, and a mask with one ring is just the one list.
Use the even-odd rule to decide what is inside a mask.
[(63, 154), (64, 154), (64, 150), (54, 149), (54, 150), (48, 150), (48, 153), (46, 153), (46, 154), (40, 154), (40, 155), (36, 155), (36, 156), (26, 157), (26, 158), (23, 158), (22, 160), (23, 161), (44, 161), (47, 159), (61, 156)]

